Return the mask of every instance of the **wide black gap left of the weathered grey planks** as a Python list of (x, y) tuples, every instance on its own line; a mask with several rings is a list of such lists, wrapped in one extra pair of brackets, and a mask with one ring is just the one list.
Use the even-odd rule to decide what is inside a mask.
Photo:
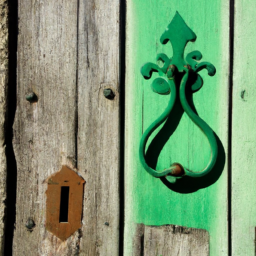
[(4, 255), (12, 255), (13, 233), (16, 221), (16, 188), (17, 188), (17, 164), (13, 151), (13, 123), (16, 111), (17, 98), (17, 41), (18, 41), (18, 1), (8, 1), (8, 88), (7, 88), (7, 112), (5, 124), (5, 145), (7, 161), (6, 177), (6, 209), (5, 209), (5, 241)]

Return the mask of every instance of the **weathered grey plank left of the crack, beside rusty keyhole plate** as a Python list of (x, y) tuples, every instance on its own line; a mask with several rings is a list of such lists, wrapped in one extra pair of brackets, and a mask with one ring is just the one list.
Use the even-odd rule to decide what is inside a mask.
[[(13, 255), (79, 251), (79, 232), (62, 242), (46, 231), (44, 182), (64, 164), (76, 167), (77, 5), (77, 0), (19, 2)], [(31, 92), (38, 102), (26, 101)], [(32, 232), (25, 227), (28, 218), (35, 222)]]

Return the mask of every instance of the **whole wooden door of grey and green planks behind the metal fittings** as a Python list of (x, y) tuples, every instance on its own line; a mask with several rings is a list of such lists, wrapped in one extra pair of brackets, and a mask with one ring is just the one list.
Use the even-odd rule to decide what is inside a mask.
[[(0, 1), (0, 255), (255, 255), (255, 7)], [(217, 70), (201, 72), (193, 103), (216, 135), (218, 158), (210, 175), (170, 184), (139, 160), (142, 134), (170, 98), (140, 69), (172, 56), (160, 37), (176, 11), (197, 35), (185, 54), (199, 50)], [(209, 157), (180, 104), (147, 144), (156, 169), (180, 162), (197, 171)], [(48, 186), (63, 168), (84, 183), (80, 228), (67, 239), (46, 225)]]

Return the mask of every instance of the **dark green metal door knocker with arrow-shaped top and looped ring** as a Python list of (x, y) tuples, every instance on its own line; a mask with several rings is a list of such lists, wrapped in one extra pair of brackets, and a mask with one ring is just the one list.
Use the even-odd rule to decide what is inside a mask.
[[(152, 90), (162, 95), (171, 93), (171, 97), (165, 111), (148, 127), (141, 138), (139, 149), (140, 161), (149, 174), (156, 178), (166, 177), (166, 179), (171, 183), (175, 183), (176, 179), (180, 179), (185, 175), (195, 178), (206, 175), (215, 165), (218, 154), (217, 141), (214, 132), (209, 127), (209, 125), (193, 111), (186, 97), (187, 90), (196, 92), (202, 87), (203, 80), (202, 77), (198, 74), (199, 71), (202, 69), (207, 69), (208, 75), (210, 76), (213, 76), (216, 72), (215, 67), (209, 62), (198, 62), (202, 59), (202, 54), (199, 51), (193, 51), (189, 53), (186, 57), (186, 60), (184, 60), (184, 50), (186, 44), (189, 41), (193, 42), (195, 40), (195, 33), (186, 25), (179, 13), (176, 12), (173, 20), (160, 38), (162, 44), (166, 44), (168, 41), (171, 42), (173, 48), (173, 57), (169, 59), (167, 55), (160, 53), (157, 55), (157, 61), (160, 60), (163, 62), (164, 65), (162, 67), (153, 63), (146, 63), (141, 68), (141, 74), (145, 79), (150, 79), (152, 72), (158, 72), (159, 77), (154, 79), (151, 84)], [(145, 160), (145, 149), (150, 135), (168, 118), (176, 101), (177, 94), (175, 77), (178, 75), (182, 76), (179, 86), (179, 98), (181, 106), (189, 118), (205, 134), (211, 148), (210, 161), (207, 166), (199, 172), (193, 172), (179, 163), (173, 163), (169, 168), (157, 171), (149, 167)], [(188, 83), (191, 77), (193, 77), (193, 82)]]

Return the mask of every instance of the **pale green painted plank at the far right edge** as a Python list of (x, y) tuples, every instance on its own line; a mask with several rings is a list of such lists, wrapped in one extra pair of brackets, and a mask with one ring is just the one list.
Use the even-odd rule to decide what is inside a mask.
[(256, 2), (235, 4), (232, 117), (232, 255), (255, 255)]

